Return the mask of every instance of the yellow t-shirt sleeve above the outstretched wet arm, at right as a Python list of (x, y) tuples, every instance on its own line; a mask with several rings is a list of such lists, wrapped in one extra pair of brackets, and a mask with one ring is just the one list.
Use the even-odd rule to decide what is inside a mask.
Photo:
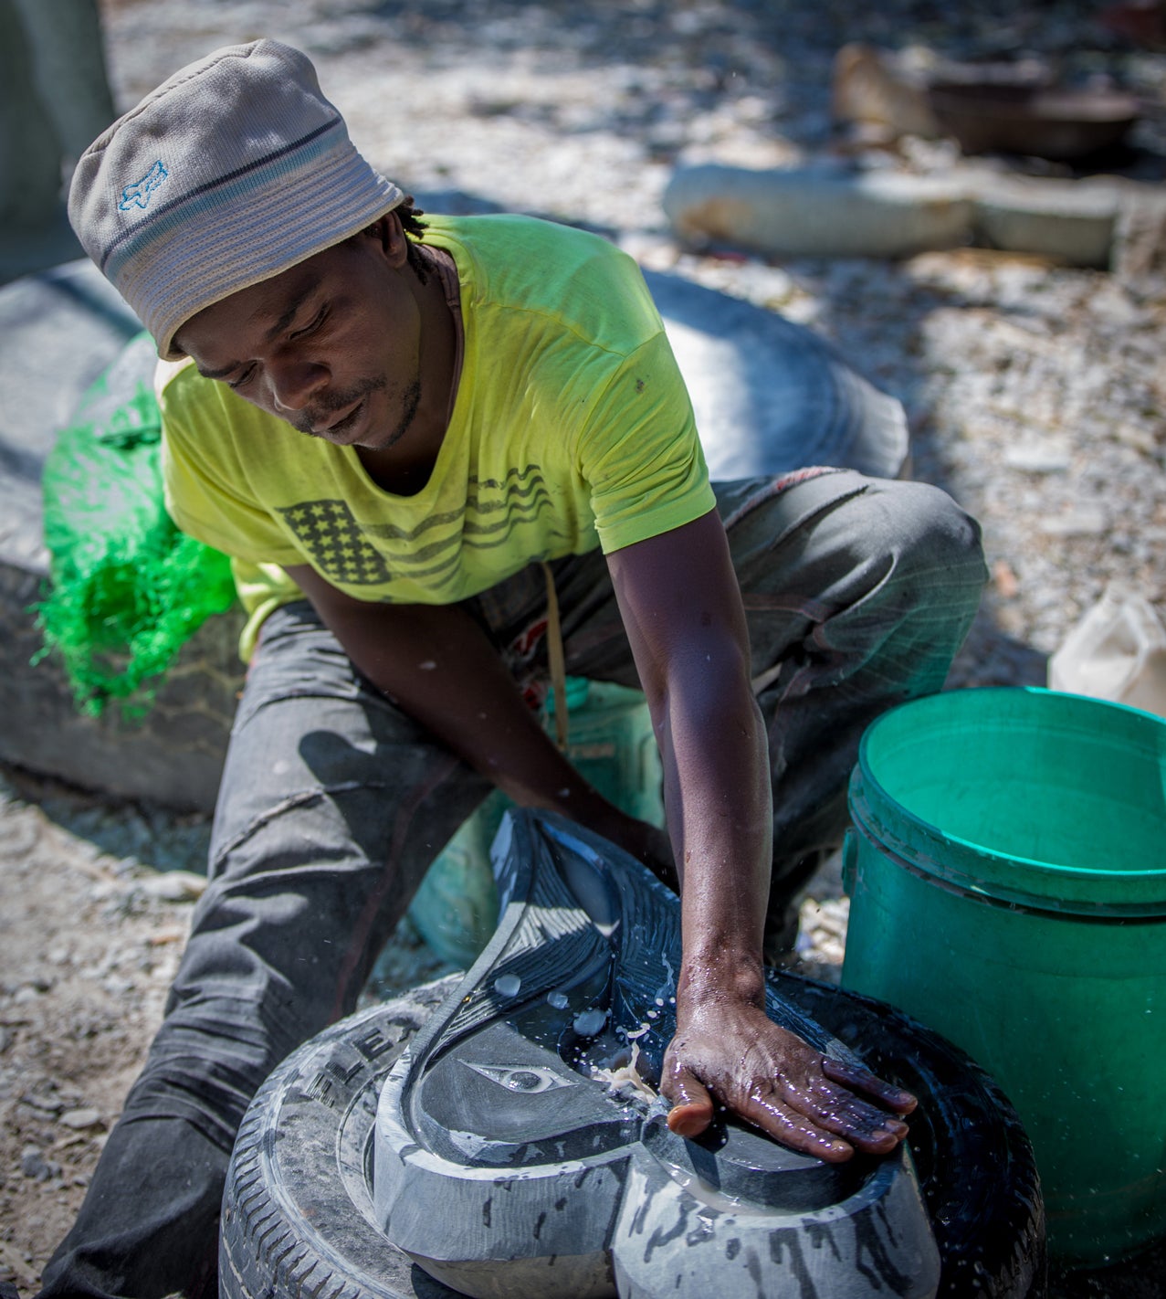
[(579, 439), (579, 460), (605, 555), (715, 507), (688, 390), (662, 331), (604, 387)]

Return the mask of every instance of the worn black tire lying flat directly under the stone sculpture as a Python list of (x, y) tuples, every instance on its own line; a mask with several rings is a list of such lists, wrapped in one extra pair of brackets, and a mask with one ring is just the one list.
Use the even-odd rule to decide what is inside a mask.
[[(380, 1083), (451, 976), (325, 1030), (247, 1112), (223, 1196), (223, 1299), (448, 1299), (373, 1225)], [(943, 1259), (943, 1299), (1040, 1299), (1044, 1222), (1011, 1105), (963, 1052), (891, 1007), (789, 974), (778, 990), (871, 1069), (919, 1096), (912, 1148)], [(565, 1296), (566, 1299), (566, 1296)]]

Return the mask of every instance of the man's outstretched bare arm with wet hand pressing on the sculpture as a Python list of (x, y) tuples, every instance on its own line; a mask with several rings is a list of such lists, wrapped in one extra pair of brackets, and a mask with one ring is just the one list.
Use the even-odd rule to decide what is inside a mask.
[(682, 878), (676, 1035), (661, 1081), (669, 1124), (696, 1135), (719, 1100), (823, 1159), (891, 1150), (914, 1098), (823, 1057), (765, 1015), (769, 757), (725, 529), (709, 513), (608, 562), (664, 759)]

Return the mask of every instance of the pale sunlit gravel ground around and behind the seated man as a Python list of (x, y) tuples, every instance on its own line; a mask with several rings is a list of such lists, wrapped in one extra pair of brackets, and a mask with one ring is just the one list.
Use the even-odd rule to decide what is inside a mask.
[[(1166, 53), (1096, 4), (887, 0), (105, 0), (121, 107), (219, 44), (308, 51), (352, 134), (432, 210), (505, 208), (586, 223), (828, 336), (906, 407), (914, 473), (984, 525), (993, 579), (954, 685), (1043, 683), (1048, 655), (1121, 579), (1166, 613), (1166, 370), (1161, 283), (983, 249), (767, 264), (678, 246), (660, 195), (678, 164), (770, 166), (837, 153), (836, 48), (863, 39), (950, 58), (1026, 55), (1111, 78), (1149, 108), (1128, 174), (1162, 175)], [(945, 144), (870, 165), (930, 170)], [(1031, 170), (1031, 165), (1028, 165)], [(1056, 168), (1041, 170), (1056, 173)], [(197, 894), (200, 818), (0, 781), (0, 1280), (23, 1290), (68, 1228), (144, 1057)], [(836, 868), (802, 911), (805, 968), (836, 978)], [(440, 973), (408, 925), (379, 991)], [(1058, 1299), (1166, 1294), (1162, 1251)]]

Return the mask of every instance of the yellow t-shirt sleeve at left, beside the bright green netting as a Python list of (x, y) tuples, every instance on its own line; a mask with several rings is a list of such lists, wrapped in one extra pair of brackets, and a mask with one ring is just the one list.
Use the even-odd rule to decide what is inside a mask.
[(182, 381), (160, 387), (162, 485), (166, 512), (190, 536), (256, 564), (303, 564), (304, 557), (248, 494), (217, 394)]

